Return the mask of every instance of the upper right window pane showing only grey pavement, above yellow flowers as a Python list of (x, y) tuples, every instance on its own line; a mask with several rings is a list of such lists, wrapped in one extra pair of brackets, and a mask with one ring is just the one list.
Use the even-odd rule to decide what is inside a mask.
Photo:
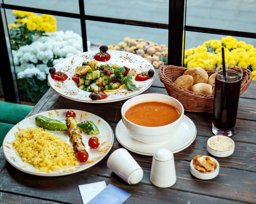
[(256, 33), (255, 0), (186, 0), (186, 25)]

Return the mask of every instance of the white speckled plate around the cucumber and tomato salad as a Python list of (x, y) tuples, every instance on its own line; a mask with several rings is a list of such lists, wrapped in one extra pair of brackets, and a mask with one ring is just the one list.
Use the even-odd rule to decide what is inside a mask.
[[(155, 68), (152, 64), (150, 64), (149, 61), (138, 55), (117, 50), (108, 50), (107, 52), (111, 56), (110, 60), (104, 62), (98, 61), (99, 65), (108, 63), (118, 64), (119, 66), (126, 66), (130, 69), (135, 68), (138, 73), (148, 71), (150, 68), (155, 71)], [(136, 87), (138, 88), (136, 91), (128, 91), (126, 88), (122, 88), (121, 90), (117, 90), (115, 92), (106, 93), (108, 95), (106, 99), (92, 100), (89, 98), (91, 92), (86, 92), (79, 89), (77, 87), (77, 83), (72, 80), (72, 76), (75, 75), (76, 67), (82, 66), (83, 62), (96, 61), (94, 59), (94, 55), (96, 53), (99, 53), (99, 50), (80, 53), (67, 57), (54, 65), (56, 72), (61, 70), (61, 72), (64, 72), (68, 78), (65, 81), (56, 81), (52, 79), (51, 75), (49, 74), (48, 82), (51, 88), (57, 94), (74, 101), (85, 103), (109, 103), (129, 99), (141, 94), (147, 90), (155, 80), (155, 75), (146, 81), (133, 80), (132, 82), (135, 83)]]

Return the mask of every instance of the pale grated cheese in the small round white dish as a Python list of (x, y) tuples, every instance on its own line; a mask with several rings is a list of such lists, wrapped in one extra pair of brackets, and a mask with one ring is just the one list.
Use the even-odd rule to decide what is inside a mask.
[(209, 140), (209, 147), (218, 151), (226, 151), (233, 147), (233, 143), (226, 136), (216, 136)]

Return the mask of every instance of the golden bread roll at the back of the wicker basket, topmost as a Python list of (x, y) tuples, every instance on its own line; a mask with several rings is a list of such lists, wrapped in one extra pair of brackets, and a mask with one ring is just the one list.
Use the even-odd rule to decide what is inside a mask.
[(196, 83), (207, 83), (208, 81), (208, 74), (201, 67), (189, 68), (187, 69), (183, 75), (190, 75), (193, 77), (193, 85)]

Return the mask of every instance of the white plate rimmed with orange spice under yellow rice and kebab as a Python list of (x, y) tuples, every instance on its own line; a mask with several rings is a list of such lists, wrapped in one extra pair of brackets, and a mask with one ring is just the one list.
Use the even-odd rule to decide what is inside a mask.
[[(39, 169), (36, 169), (34, 166), (30, 165), (27, 162), (23, 162), (22, 158), (16, 154), (16, 150), (12, 146), (13, 141), (15, 140), (15, 133), (18, 132), (20, 129), (27, 129), (28, 127), (38, 127), (35, 124), (35, 117), (37, 115), (43, 115), (48, 118), (57, 119), (59, 121), (62, 121), (65, 123), (65, 114), (68, 110), (61, 109), (61, 110), (50, 110), (46, 112), (42, 112), (33, 116), (30, 116), (29, 118), (24, 119), (23, 121), (20, 121), (18, 124), (16, 124), (5, 136), (3, 141), (3, 153), (6, 160), (16, 169), (19, 169), (20, 171), (23, 171), (25, 173), (29, 173), (32, 175), (39, 175), (39, 176), (61, 176), (61, 175), (68, 175), (72, 173), (76, 173), (79, 171), (83, 171), (85, 169), (88, 169), (94, 165), (96, 165), (99, 161), (101, 161), (110, 151), (113, 140), (114, 140), (114, 134), (113, 131), (108, 125), (106, 121), (104, 121), (102, 118), (100, 118), (97, 115), (91, 114), (89, 112), (81, 111), (81, 110), (73, 110), (76, 113), (76, 121), (77, 123), (90, 120), (95, 125), (97, 125), (100, 134), (96, 135), (97, 138), (99, 138), (100, 145), (97, 149), (90, 149), (88, 146), (88, 140), (92, 135), (86, 134), (82, 131), (82, 139), (83, 143), (85, 144), (85, 149), (88, 151), (89, 158), (87, 162), (80, 163), (77, 162), (76, 166), (68, 167), (59, 169), (56, 171), (40, 171)], [(39, 127), (38, 127), (39, 128)], [(59, 136), (60, 138), (63, 138), (66, 140), (66, 142), (72, 147), (72, 143), (68, 137), (67, 131), (50, 131)]]

